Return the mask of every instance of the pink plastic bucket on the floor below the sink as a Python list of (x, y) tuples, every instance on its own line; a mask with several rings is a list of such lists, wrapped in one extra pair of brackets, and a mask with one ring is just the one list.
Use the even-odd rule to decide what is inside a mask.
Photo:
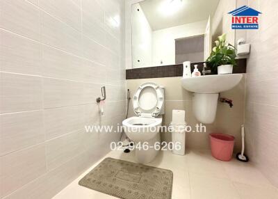
[(234, 150), (234, 136), (227, 134), (209, 134), (211, 154), (216, 159), (230, 161)]

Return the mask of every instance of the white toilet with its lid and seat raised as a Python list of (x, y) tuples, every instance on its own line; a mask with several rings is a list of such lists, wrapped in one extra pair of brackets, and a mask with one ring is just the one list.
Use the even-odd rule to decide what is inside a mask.
[(159, 150), (160, 127), (164, 114), (164, 88), (156, 83), (143, 83), (133, 96), (133, 110), (137, 117), (127, 118), (122, 122), (124, 132), (136, 144), (144, 148), (136, 148), (136, 161), (148, 163), (152, 161)]

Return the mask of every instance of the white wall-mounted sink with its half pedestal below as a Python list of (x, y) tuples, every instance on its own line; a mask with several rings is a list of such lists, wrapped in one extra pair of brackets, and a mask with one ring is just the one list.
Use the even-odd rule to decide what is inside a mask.
[(243, 74), (216, 74), (182, 78), (183, 88), (194, 92), (193, 113), (199, 122), (211, 124), (215, 120), (219, 93), (234, 88)]

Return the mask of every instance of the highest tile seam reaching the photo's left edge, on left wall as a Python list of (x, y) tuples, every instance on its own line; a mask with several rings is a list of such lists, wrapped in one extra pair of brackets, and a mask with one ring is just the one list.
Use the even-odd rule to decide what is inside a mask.
[[(63, 53), (65, 53), (65, 54), (68, 54), (68, 55), (71, 55), (71, 56), (74, 56), (74, 57), (77, 57), (77, 58), (84, 59), (85, 61), (90, 61), (90, 62), (92, 62), (92, 63), (96, 63), (97, 65), (102, 65), (102, 66), (104, 66), (104, 67), (108, 67), (108, 66), (106, 66), (106, 65), (104, 65), (104, 64), (102, 64), (102, 63), (98, 63), (97, 61), (92, 61), (91, 59), (86, 58), (85, 56), (79, 56), (79, 55), (76, 55), (76, 54), (72, 54), (72, 52), (70, 52), (70, 51), (65, 51), (64, 49), (60, 49), (59, 47), (54, 47), (54, 46), (49, 45), (49, 44), (47, 44), (47, 43), (43, 43), (43, 42), (40, 42), (40, 41), (38, 41), (38, 40), (33, 40), (32, 38), (27, 38), (27, 37), (24, 36), (24, 35), (20, 35), (19, 33), (15, 33), (15, 32), (13, 32), (13, 31), (9, 31), (8, 29), (3, 29), (3, 28), (0, 27), (0, 30), (6, 31), (7, 33), (10, 33), (10, 34), (17, 35), (17, 36), (20, 37), (20, 38), (25, 38), (25, 39), (27, 39), (27, 40), (31, 40), (32, 42), (36, 42), (38, 45), (42, 45), (42, 46), (44, 45), (44, 46), (47, 46), (47, 47), (51, 47), (51, 48), (54, 48), (54, 49), (56, 49), (56, 50), (58, 50), (58, 51), (63, 51)], [(40, 46), (40, 49), (41, 49), (41, 46)], [(41, 57), (41, 58), (42, 58), (42, 57)]]

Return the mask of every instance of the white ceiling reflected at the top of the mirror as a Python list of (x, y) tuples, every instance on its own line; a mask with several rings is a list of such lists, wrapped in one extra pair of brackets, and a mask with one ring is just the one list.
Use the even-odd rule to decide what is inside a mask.
[(167, 6), (163, 6), (169, 1), (171, 0), (145, 0), (140, 2), (140, 6), (153, 31), (208, 19), (209, 15), (213, 16), (219, 0), (182, 0), (181, 7), (172, 15), (169, 15)]

